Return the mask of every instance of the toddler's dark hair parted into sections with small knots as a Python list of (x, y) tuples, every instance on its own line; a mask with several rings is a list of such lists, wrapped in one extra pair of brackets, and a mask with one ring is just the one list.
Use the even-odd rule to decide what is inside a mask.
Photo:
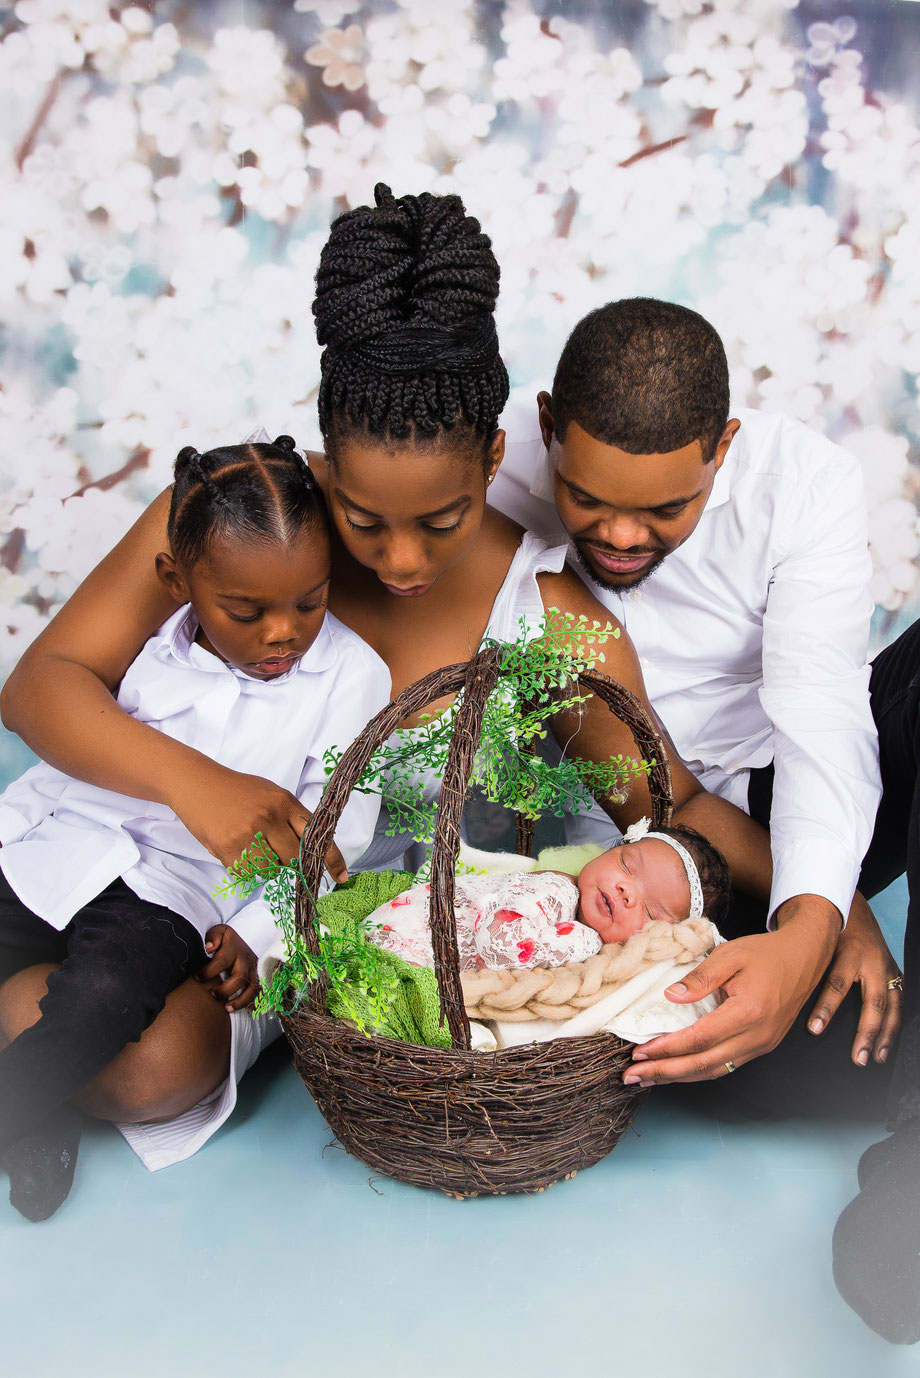
[(291, 435), (270, 444), (179, 451), (169, 504), (169, 548), (190, 569), (213, 542), (289, 544), (304, 526), (326, 529), (320, 486)]

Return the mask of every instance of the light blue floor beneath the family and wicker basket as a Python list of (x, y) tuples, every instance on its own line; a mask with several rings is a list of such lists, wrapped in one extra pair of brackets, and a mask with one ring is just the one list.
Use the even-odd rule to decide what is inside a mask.
[[(897, 927), (905, 890), (880, 905)], [(661, 1096), (661, 1093), (658, 1093)], [(533, 1197), (449, 1200), (329, 1148), (278, 1045), (237, 1115), (147, 1173), (107, 1127), (70, 1200), (0, 1196), (4, 1378), (899, 1378), (830, 1277), (865, 1124), (729, 1124), (656, 1102)]]

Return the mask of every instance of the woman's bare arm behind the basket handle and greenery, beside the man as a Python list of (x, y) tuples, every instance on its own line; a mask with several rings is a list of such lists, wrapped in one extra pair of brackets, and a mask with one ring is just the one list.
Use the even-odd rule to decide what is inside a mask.
[[(563, 569), (558, 575), (540, 575), (539, 582), (547, 609), (558, 608), (563, 613), (573, 613), (576, 617), (585, 616), (589, 621), (596, 620), (602, 626), (610, 621), (616, 626), (616, 619), (611, 617), (610, 612), (594, 598), (570, 569)], [(603, 652), (606, 660), (598, 668), (631, 689), (657, 722), (642, 679), (639, 657), (623, 628), (620, 628), (618, 637), (607, 638)], [(737, 809), (727, 799), (708, 794), (687, 770), (667, 736), (664, 725), (658, 723), (658, 728), (669, 748), (668, 761), (675, 801), (673, 821), (694, 827), (719, 847), (729, 863), (737, 889), (764, 900), (769, 898), (773, 878), (770, 834), (742, 809)], [(558, 714), (552, 722), (552, 732), (561, 745), (588, 761), (606, 761), (611, 755), (635, 757), (636, 754), (629, 729), (598, 697), (589, 699), (580, 710), (572, 708)], [(650, 806), (649, 784), (639, 777), (631, 784), (625, 802), (610, 805), (607, 813), (618, 827), (625, 828), (629, 823), (647, 814)]]

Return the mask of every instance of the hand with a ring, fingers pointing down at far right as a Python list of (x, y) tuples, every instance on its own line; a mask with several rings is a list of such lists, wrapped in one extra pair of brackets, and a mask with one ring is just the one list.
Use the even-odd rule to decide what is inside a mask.
[(865, 1067), (872, 1054), (876, 1062), (884, 1062), (901, 1027), (901, 991), (888, 987), (898, 974), (898, 963), (888, 951), (876, 916), (857, 890), (847, 926), (837, 940), (830, 970), (811, 1011), (808, 1031), (821, 1034), (840, 1009), (850, 987), (858, 981), (862, 1011), (853, 1043), (853, 1061)]

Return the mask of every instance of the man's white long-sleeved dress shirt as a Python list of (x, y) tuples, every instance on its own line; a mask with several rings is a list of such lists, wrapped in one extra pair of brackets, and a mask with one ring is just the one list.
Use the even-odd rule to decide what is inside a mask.
[[(862, 474), (799, 422), (733, 416), (741, 430), (683, 546), (634, 590), (576, 569), (632, 638), (649, 699), (707, 790), (746, 810), (751, 769), (775, 763), (770, 914), (819, 894), (846, 918), (880, 796)], [(552, 539), (536, 405), (512, 405), (501, 424), (489, 500)]]

